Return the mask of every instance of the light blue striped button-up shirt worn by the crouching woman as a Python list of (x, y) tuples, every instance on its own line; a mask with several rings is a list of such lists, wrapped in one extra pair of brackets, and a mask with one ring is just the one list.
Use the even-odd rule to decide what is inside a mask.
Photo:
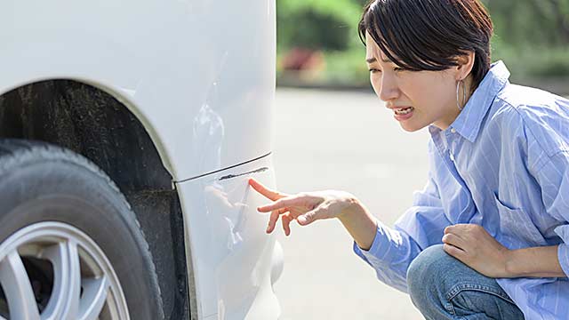
[[(405, 275), (446, 226), (483, 226), (509, 249), (557, 245), (569, 275), (569, 100), (509, 84), (498, 61), (453, 124), (429, 126), (429, 181), (394, 228), (354, 252), (406, 292)], [(526, 319), (569, 319), (566, 277), (500, 278)]]

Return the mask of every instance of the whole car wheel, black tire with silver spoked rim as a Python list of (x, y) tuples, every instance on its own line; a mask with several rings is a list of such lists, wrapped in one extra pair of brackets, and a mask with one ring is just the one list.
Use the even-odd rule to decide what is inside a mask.
[[(56, 260), (68, 259), (70, 264), (42, 260), (54, 247), (70, 248), (56, 254)], [(14, 267), (22, 265), (26, 272)], [(74, 268), (80, 268), (80, 276), (69, 271)], [(21, 279), (22, 275), (28, 276), (28, 283)], [(66, 280), (68, 275), (71, 280)], [(52, 312), (57, 319), (62, 315), (68, 319), (89, 318), (85, 313), (95, 311), (88, 308), (91, 302), (86, 297), (87, 284), (103, 276), (108, 293), (102, 302), (93, 300), (104, 305), (95, 306), (100, 313), (92, 318), (164, 319), (148, 243), (115, 183), (95, 164), (68, 149), (40, 141), (0, 140), (0, 300), (4, 300), (4, 308), (9, 307), (4, 316), (9, 313), (10, 319), (34, 318), (26, 314), (29, 310), (34, 313), (34, 308), (29, 303), (21, 307), (26, 299), (17, 297), (33, 292), (42, 318), (46, 312)], [(31, 288), (27, 288), (28, 284)], [(77, 286), (81, 287), (80, 293), (73, 289)], [(79, 300), (57, 300), (69, 295)], [(116, 304), (125, 306), (126, 313), (116, 311), (120, 310)]]

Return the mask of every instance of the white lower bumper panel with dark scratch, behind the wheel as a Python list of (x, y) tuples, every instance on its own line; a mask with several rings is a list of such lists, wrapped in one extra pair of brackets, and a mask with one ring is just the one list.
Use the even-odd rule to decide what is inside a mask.
[(177, 184), (188, 212), (200, 318), (268, 320), (280, 314), (271, 281), (271, 271), (281, 267), (273, 263), (276, 237), (265, 233), (268, 214), (257, 212), (268, 200), (248, 186), (250, 177), (274, 188), (270, 155)]

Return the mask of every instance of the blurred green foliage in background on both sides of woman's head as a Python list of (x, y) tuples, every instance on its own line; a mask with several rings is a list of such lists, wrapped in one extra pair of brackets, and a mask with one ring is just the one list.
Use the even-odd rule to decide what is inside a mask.
[[(569, 0), (482, 0), (492, 16), (493, 60), (504, 60), (513, 82), (569, 78)], [(357, 36), (365, 0), (277, 0), (277, 59), (294, 47), (324, 52), (311, 81), (369, 85), (365, 47)], [(278, 68), (279, 76), (283, 69)]]

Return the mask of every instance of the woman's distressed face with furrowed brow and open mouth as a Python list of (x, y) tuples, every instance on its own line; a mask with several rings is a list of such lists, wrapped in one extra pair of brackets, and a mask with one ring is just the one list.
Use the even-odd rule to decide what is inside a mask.
[(460, 113), (456, 84), (463, 72), (457, 67), (443, 71), (401, 69), (381, 52), (372, 36), (367, 34), (365, 39), (373, 90), (393, 110), (401, 127), (407, 132), (429, 124), (441, 130), (448, 128)]

